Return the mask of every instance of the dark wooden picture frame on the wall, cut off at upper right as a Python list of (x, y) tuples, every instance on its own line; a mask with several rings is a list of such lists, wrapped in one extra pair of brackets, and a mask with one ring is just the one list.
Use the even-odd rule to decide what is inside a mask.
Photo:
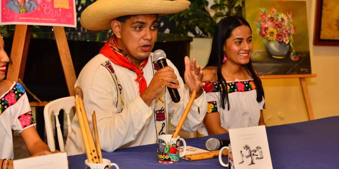
[(339, 40), (320, 38), (322, 7), (323, 7), (323, 0), (317, 0), (313, 44), (319, 45), (319, 46), (339, 46)]

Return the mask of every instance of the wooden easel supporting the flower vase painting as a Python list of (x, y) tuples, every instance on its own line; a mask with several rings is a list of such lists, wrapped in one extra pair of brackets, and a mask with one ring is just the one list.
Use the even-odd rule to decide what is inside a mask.
[(286, 79), (286, 78), (299, 78), (302, 95), (306, 106), (308, 120), (314, 120), (311, 99), (308, 95), (307, 84), (305, 78), (317, 77), (317, 74), (291, 74), (291, 75), (259, 75), (260, 79)]

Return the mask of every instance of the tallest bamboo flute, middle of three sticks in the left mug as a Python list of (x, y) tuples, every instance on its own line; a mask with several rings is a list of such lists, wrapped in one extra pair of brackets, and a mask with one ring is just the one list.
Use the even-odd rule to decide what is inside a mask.
[(97, 149), (94, 144), (92, 131), (91, 131), (91, 128), (89, 127), (84, 102), (82, 100), (83, 98), (82, 90), (80, 87), (76, 87), (76, 90), (78, 90), (78, 93), (80, 94), (80, 97), (79, 97), (80, 109), (81, 109), (81, 114), (82, 114), (84, 124), (85, 124), (85, 130), (86, 130), (86, 134), (88, 138), (89, 148), (91, 149), (91, 155), (93, 157), (94, 163), (99, 163)]

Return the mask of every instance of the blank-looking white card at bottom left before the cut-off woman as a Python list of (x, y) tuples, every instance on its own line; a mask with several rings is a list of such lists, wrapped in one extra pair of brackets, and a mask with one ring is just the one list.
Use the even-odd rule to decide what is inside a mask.
[(14, 160), (14, 169), (68, 169), (65, 152)]

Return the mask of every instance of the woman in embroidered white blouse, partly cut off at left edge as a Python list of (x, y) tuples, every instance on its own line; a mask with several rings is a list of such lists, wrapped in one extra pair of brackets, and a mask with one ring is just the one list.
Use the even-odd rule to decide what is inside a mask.
[[(3, 49), (0, 34), (0, 168), (13, 169), (12, 129), (20, 133), (32, 156), (51, 154), (48, 146), (40, 139), (25, 89), (20, 83), (3, 80), (9, 58)], [(9, 167), (8, 167), (9, 166)]]

